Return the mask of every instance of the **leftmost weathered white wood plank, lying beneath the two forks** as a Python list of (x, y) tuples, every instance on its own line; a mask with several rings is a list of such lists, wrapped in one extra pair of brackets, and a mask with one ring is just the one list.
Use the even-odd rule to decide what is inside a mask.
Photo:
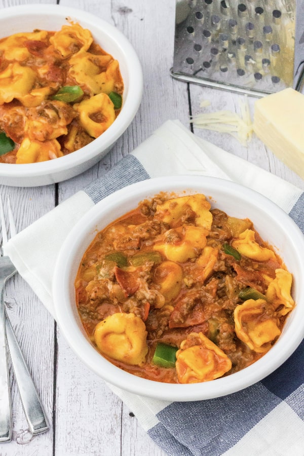
[[(54, 207), (52, 186), (18, 188), (0, 185), (0, 193), (10, 195), (20, 231)], [(18, 275), (7, 283), (5, 302), (16, 337), (28, 363), (37, 391), (39, 392), (51, 430), (32, 437), (23, 414), (23, 409), (11, 372), (13, 403), (13, 441), (0, 445), (2, 456), (23, 456), (53, 452), (52, 412), (54, 378), (54, 320), (26, 282)]]

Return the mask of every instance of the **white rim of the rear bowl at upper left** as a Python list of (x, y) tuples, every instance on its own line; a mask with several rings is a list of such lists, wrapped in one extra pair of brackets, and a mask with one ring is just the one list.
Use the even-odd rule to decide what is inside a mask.
[[(46, 14), (62, 19), (74, 16), (87, 24), (92, 23), (95, 27), (102, 27), (103, 32), (109, 35), (110, 40), (117, 42), (118, 47), (123, 49), (124, 53), (128, 56), (126, 61), (128, 60), (128, 73), (131, 75), (129, 77), (128, 91), (126, 97), (123, 99), (122, 110), (115, 122), (102, 135), (94, 139), (94, 149), (92, 148), (92, 141), (81, 149), (75, 150), (72, 154), (47, 162), (18, 164), (18, 166), (0, 163), (0, 176), (6, 178), (30, 178), (54, 175), (90, 161), (91, 158), (98, 156), (103, 150), (111, 147), (125, 132), (133, 121), (142, 100), (143, 73), (136, 51), (127, 37), (117, 27), (104, 19), (78, 8), (65, 7), (57, 4), (31, 4), (3, 8), (1, 10), (0, 23), (3, 20), (21, 15), (41, 16)], [(86, 27), (89, 28), (89, 25), (86, 25)], [(113, 57), (115, 58), (115, 56)], [(100, 151), (96, 152), (96, 149), (100, 149)]]

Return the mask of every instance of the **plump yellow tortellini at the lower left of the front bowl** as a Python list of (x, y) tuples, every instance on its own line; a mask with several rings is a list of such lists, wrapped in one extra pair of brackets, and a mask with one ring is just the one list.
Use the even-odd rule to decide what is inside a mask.
[(94, 331), (98, 350), (126, 364), (141, 365), (148, 352), (147, 332), (140, 317), (116, 313), (100, 321)]

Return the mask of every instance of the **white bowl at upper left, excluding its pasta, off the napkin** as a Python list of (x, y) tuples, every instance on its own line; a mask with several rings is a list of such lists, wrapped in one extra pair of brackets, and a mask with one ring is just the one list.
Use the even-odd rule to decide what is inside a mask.
[(90, 144), (64, 157), (24, 165), (0, 163), (0, 182), (12, 186), (48, 185), (74, 177), (104, 157), (132, 122), (141, 102), (142, 69), (134, 48), (114, 26), (98, 16), (60, 5), (23, 5), (4, 8), (0, 38), (34, 29), (60, 30), (66, 18), (88, 28), (94, 40), (119, 61), (124, 81), (123, 106), (115, 122)]

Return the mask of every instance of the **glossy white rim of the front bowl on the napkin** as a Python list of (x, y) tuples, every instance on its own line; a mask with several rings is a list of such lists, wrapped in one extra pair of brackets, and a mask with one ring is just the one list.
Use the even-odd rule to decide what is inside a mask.
[[(300, 247), (302, 247), (302, 250), (304, 251), (304, 236), (299, 227), (289, 217), (289, 215), (283, 211), (283, 209), (267, 197), (250, 188), (216, 177), (179, 175), (146, 179), (124, 187), (107, 196), (92, 207), (78, 221), (78, 223), (75, 224), (60, 249), (52, 282), (52, 295), (56, 320), (64, 338), (74, 353), (92, 371), (101, 376), (106, 382), (131, 393), (167, 401), (194, 401), (211, 399), (228, 395), (249, 387), (282, 365), (296, 350), (304, 337), (304, 324), (301, 326), (293, 323), (292, 339), (289, 340), (288, 347), (286, 347), (285, 341), (284, 343), (282, 342), (281, 337), (268, 353), (245, 369), (226, 377), (217, 378), (211, 382), (191, 385), (151, 382), (150, 380), (125, 372), (103, 358), (102, 355), (98, 353), (98, 351), (88, 341), (84, 330), (81, 329), (79, 323), (76, 321), (77, 316), (74, 318), (75, 313), (77, 313), (75, 306), (73, 312), (71, 307), (73, 303), (71, 303), (71, 305), (68, 303), (69, 292), (67, 288), (69, 283), (69, 269), (73, 263), (73, 255), (71, 252), (73, 252), (73, 249), (74, 251), (79, 250), (80, 244), (84, 243), (86, 233), (90, 231), (94, 232), (94, 226), (95, 234), (99, 231), (99, 228), (96, 229), (98, 220), (100, 220), (105, 214), (109, 214), (112, 207), (119, 204), (118, 202), (124, 206), (125, 200), (136, 197), (138, 193), (140, 194), (137, 200), (139, 202), (145, 199), (145, 197), (142, 197), (143, 193), (151, 196), (159, 193), (161, 191), (160, 189), (163, 189), (164, 192), (169, 192), (170, 188), (172, 191), (175, 191), (174, 189), (178, 186), (180, 188), (182, 184), (188, 188), (195, 188), (195, 185), (200, 184), (205, 187), (208, 186), (208, 189), (210, 188), (209, 195), (212, 195), (212, 189), (215, 190), (221, 185), (224, 185), (226, 191), (232, 192), (232, 194), (235, 195), (242, 195), (243, 199), (244, 196), (246, 196), (246, 198), (256, 201), (256, 205), (262, 205), (264, 210), (268, 211), (267, 213), (274, 214), (272, 218), (276, 218), (281, 221), (284, 226), (284, 230), (288, 230), (290, 233), (289, 239), (291, 245), (294, 246), (294, 249), (296, 249), (296, 246), (298, 248), (298, 244), (300, 244)], [(112, 220), (115, 220), (116, 218), (117, 216), (113, 216)], [(108, 223), (105, 225), (107, 224)], [(82, 249), (83, 251), (87, 249), (89, 243), (90, 241), (87, 241), (86, 246)], [(82, 254), (80, 258), (81, 257)], [(301, 257), (298, 255), (297, 260), (300, 262), (301, 270), (304, 271), (304, 256)], [(73, 276), (73, 280), (74, 278), (75, 277)], [(299, 302), (297, 302), (296, 306), (297, 314), (299, 314), (297, 318), (300, 319), (297, 321), (304, 321), (304, 299), (301, 299), (301, 301), (301, 307), (299, 306)], [(295, 309), (293, 312), (295, 312)], [(294, 322), (294, 320), (292, 320), (292, 322)], [(75, 337), (75, 334), (77, 334), (78, 337)], [(106, 366), (105, 371), (102, 370), (104, 366)], [(258, 368), (260, 366), (263, 368), (262, 372), (261, 369)]]

